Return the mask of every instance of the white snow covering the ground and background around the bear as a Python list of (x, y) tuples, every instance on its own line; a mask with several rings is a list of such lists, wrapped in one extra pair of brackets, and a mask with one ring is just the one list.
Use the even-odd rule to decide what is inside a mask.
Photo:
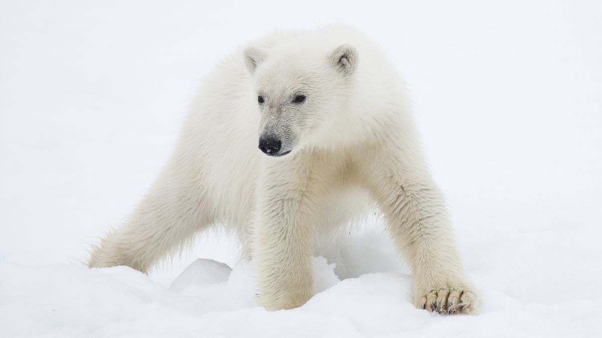
[[(597, 1), (3, 0), (0, 336), (595, 336), (600, 17)], [(255, 305), (252, 265), (219, 231), (150, 276), (81, 264), (151, 184), (213, 64), (332, 22), (373, 37), (408, 82), (481, 315), (414, 309), (379, 218), (320, 244), (317, 293), (293, 310)]]

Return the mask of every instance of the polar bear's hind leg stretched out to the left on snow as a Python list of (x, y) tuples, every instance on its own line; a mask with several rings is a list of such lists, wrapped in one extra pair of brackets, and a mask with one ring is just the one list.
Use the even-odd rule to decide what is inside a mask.
[(199, 230), (213, 223), (198, 174), (191, 176), (181, 167), (169, 168), (125, 224), (93, 247), (90, 268), (126, 265), (146, 273), (155, 262), (182, 250)]

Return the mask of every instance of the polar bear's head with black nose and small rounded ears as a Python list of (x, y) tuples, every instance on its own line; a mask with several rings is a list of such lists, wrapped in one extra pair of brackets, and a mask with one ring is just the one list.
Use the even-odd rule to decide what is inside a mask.
[(244, 61), (261, 114), (259, 149), (268, 156), (283, 156), (306, 144), (321, 146), (352, 95), (356, 49), (251, 46), (244, 51)]

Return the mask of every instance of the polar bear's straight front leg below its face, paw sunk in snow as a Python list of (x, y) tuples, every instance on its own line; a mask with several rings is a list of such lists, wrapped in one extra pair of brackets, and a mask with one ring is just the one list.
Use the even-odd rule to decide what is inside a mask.
[(253, 225), (258, 303), (267, 310), (292, 309), (314, 294), (309, 179), (299, 171), (264, 170), (261, 176)]

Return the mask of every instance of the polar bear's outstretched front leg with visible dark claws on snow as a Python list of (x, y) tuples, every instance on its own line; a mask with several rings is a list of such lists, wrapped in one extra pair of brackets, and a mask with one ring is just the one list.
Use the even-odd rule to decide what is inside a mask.
[[(410, 162), (397, 162), (401, 159)], [(462, 268), (444, 197), (426, 165), (409, 155), (380, 156), (373, 163), (367, 171), (370, 188), (414, 272), (414, 305), (438, 313), (478, 313), (479, 299)]]

